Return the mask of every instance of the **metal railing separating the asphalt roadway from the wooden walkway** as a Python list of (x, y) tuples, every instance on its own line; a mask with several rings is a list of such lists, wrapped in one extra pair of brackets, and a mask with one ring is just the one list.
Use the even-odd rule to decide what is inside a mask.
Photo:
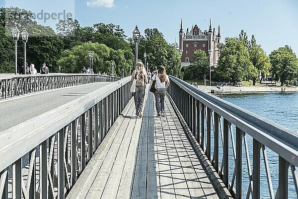
[(130, 77), (0, 133), (0, 199), (64, 199), (129, 99)]

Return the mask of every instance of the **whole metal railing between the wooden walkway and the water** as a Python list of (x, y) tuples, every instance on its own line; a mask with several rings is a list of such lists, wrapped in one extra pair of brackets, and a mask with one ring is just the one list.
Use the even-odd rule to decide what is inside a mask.
[[(266, 197), (270, 199), (288, 199), (289, 182), (292, 182), (292, 191), (296, 190), (296, 193), (291, 193), (292, 197), (297, 197), (298, 133), (201, 91), (181, 79), (170, 76), (170, 81), (168, 92), (172, 100), (197, 140), (196, 143), (201, 146), (234, 198), (249, 199), (251, 196), (252, 199), (260, 199), (261, 180), (267, 180)], [(268, 161), (267, 150), (277, 154), (279, 172), (276, 172), (276, 177), (279, 181), (278, 185), (275, 183), (276, 190), (273, 188), (271, 172), (277, 168), (270, 170), (272, 162)], [(242, 151), (245, 151), (244, 155)], [(264, 165), (261, 165), (261, 160)], [(245, 163), (246, 168), (242, 167)], [(246, 180), (248, 186), (245, 191), (242, 180)], [(262, 182), (264, 185), (266, 182)]]

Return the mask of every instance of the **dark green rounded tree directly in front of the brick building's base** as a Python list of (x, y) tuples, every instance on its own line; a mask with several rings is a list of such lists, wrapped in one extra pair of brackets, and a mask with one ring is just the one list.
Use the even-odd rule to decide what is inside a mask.
[[(185, 79), (204, 79), (209, 76), (209, 58), (202, 50), (195, 52), (193, 62), (183, 68)], [(206, 76), (205, 76), (206, 75)]]

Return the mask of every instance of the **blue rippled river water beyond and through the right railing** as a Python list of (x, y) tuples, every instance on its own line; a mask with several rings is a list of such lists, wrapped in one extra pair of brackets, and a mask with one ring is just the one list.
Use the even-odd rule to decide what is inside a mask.
[[(239, 107), (245, 108), (259, 116), (267, 118), (273, 122), (276, 122), (284, 127), (287, 127), (293, 131), (298, 131), (298, 93), (262, 93), (262, 94), (220, 94), (218, 97), (231, 102)], [(298, 143), (297, 143), (298, 144)], [(250, 164), (252, 166), (252, 138), (248, 136), (248, 148), (250, 151)], [(244, 147), (244, 146), (243, 146)], [(243, 148), (242, 147), (242, 148)], [(243, 198), (246, 198), (248, 189), (248, 175), (247, 164), (245, 158), (245, 151), (243, 150)], [(232, 151), (229, 152), (230, 166), (233, 167)], [(270, 173), (272, 178), (272, 184), (274, 194), (278, 187), (278, 155), (267, 149)], [(261, 157), (262, 157), (261, 152)], [(232, 173), (230, 171), (230, 173)], [(245, 175), (246, 174), (246, 175)], [(292, 171), (289, 169), (289, 199), (297, 199), (294, 181), (292, 177)], [(232, 174), (230, 174), (230, 180)], [(263, 159), (261, 160), (261, 198), (270, 199), (268, 194), (267, 177), (265, 173), (265, 166)]]

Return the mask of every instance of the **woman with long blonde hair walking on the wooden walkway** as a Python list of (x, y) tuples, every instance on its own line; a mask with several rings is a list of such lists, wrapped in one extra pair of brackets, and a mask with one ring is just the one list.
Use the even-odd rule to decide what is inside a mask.
[(133, 71), (132, 80), (136, 81), (136, 92), (134, 93), (135, 105), (136, 105), (136, 116), (142, 118), (143, 102), (145, 96), (145, 83), (148, 83), (147, 72), (142, 62), (138, 62), (137, 69)]

